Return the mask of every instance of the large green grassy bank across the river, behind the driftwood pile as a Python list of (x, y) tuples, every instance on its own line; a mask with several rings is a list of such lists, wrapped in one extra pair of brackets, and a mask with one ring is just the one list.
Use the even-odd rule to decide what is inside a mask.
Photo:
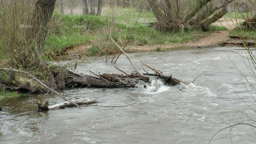
[[(124, 46), (129, 39), (131, 46), (165, 45), (168, 43), (182, 43), (196, 37), (202, 37), (211, 31), (226, 30), (224, 27), (211, 26), (209, 32), (197, 29), (181, 31), (159, 32), (148, 27), (145, 22), (155, 21), (154, 15), (143, 11), (138, 19), (138, 11), (133, 9), (103, 9), (100, 17), (90, 15), (61, 15), (54, 14), (49, 29), (49, 36), (45, 42), (45, 51), (52, 56), (61, 54), (69, 47), (84, 44), (91, 45), (87, 49), (88, 55), (103, 55), (119, 51), (111, 36), (120, 46)], [(135, 25), (136, 23), (136, 25)]]

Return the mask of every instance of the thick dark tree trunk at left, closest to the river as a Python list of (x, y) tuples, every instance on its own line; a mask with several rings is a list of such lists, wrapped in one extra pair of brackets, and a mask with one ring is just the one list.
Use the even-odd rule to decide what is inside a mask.
[[(38, 0), (35, 5), (35, 12), (31, 22), (31, 30), (27, 34), (26, 42), (26, 45), (31, 48), (29, 53), (34, 53), (35, 57), (24, 57), (26, 62), (23, 67), (25, 67), (25, 69), (38, 67), (41, 72), (45, 72), (47, 69), (47, 64), (44, 62), (42, 56), (45, 46), (45, 38), (48, 33), (48, 26), (54, 11), (55, 2), (56, 0)], [(26, 53), (24, 52), (24, 54)], [(56, 89), (56, 84), (53, 79), (51, 79), (53, 77), (52, 73), (49, 73), (47, 76), (49, 77), (49, 83), (47, 85), (52, 89)]]

